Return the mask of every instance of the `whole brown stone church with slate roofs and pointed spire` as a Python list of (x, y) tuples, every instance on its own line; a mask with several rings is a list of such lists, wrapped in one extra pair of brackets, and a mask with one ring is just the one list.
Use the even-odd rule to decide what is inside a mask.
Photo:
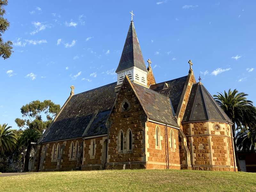
[(237, 171), (232, 121), (192, 62), (185, 76), (156, 83), (131, 21), (117, 82), (74, 94), (37, 145), (33, 171), (193, 169)]

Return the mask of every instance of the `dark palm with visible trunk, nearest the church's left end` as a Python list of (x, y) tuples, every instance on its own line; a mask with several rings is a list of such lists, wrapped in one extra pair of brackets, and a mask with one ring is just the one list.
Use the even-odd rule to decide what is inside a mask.
[(41, 133), (35, 129), (26, 129), (20, 136), (20, 144), (27, 147), (27, 152), (25, 156), (24, 172), (28, 172), (28, 163), (30, 158), (30, 151), (32, 148), (31, 142), (37, 142), (40, 138)]

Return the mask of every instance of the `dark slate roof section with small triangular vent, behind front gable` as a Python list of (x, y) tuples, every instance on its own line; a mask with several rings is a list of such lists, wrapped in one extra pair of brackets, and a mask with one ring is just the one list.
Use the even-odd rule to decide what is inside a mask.
[[(174, 113), (176, 113), (186, 80), (187, 76), (184, 76), (170, 81), (150, 85), (149, 88), (171, 98), (173, 110)], [(165, 83), (168, 85), (167, 88)]]

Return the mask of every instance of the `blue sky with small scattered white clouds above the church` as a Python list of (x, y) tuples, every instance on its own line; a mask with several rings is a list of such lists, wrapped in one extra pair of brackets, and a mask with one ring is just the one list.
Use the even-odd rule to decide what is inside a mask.
[[(188, 74), (193, 62), (211, 94), (238, 89), (256, 102), (255, 1), (9, 1), (0, 59), (0, 124), (17, 128), (20, 107), (116, 81), (114, 73), (133, 17), (156, 82)], [(254, 69), (255, 68), (255, 69)]]

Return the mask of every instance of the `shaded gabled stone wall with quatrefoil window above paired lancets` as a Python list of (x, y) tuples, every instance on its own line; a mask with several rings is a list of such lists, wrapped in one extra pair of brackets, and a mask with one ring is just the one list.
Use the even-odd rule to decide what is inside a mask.
[[(121, 105), (129, 103), (127, 110)], [(138, 98), (128, 81), (124, 81), (116, 103), (110, 114), (108, 130), (108, 169), (143, 169), (146, 168), (145, 134), (146, 115)], [(128, 149), (128, 133), (132, 132), (132, 150)], [(123, 150), (121, 150), (121, 132), (123, 133)]]

